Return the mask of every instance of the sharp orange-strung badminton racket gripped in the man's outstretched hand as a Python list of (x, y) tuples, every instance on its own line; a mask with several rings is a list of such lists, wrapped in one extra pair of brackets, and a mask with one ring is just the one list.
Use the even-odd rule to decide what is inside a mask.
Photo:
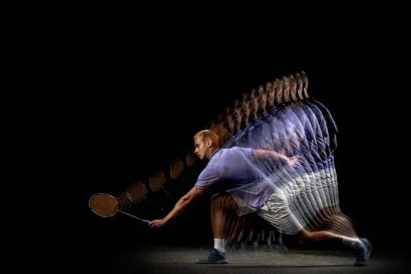
[(117, 199), (112, 195), (105, 193), (97, 193), (95, 195), (92, 195), (92, 197), (90, 197), (90, 200), (88, 200), (88, 206), (90, 207), (92, 212), (95, 212), (95, 214), (102, 217), (111, 217), (114, 216), (114, 214), (116, 214), (117, 212), (121, 212), (128, 216), (132, 216), (133, 218), (136, 218), (143, 223), (146, 223), (147, 225), (150, 223), (150, 221), (148, 220), (140, 219), (132, 214), (128, 214), (119, 210), (119, 202), (117, 201)]

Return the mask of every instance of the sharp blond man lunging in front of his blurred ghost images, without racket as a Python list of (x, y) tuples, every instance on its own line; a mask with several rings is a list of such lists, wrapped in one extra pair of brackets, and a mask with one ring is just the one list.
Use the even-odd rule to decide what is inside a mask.
[[(262, 219), (274, 225), (284, 234), (297, 235), (301, 242), (310, 240), (336, 240), (343, 245), (354, 248), (357, 258), (355, 266), (366, 266), (371, 253), (371, 243), (361, 238), (349, 238), (328, 231), (309, 232), (298, 221), (295, 211), (290, 208), (287, 193), (284, 192), (282, 176), (266, 173), (260, 168), (264, 162), (279, 163), (283, 169), (292, 169), (299, 164), (299, 155), (287, 157), (275, 151), (231, 147), (219, 149), (221, 139), (216, 130), (205, 129), (194, 136), (195, 153), (200, 160), (209, 160), (201, 172), (195, 186), (184, 197), (179, 199), (175, 207), (164, 219), (154, 220), (150, 227), (162, 227), (169, 220), (183, 212), (199, 195), (209, 188), (216, 188), (219, 195), (212, 198), (212, 229), (214, 247), (204, 258), (197, 259), (202, 264), (226, 264), (228, 262), (224, 250), (223, 227), (225, 214), (221, 208), (236, 210), (242, 216), (255, 212)], [(279, 168), (277, 173), (281, 173)], [(223, 203), (223, 207), (221, 206)], [(214, 205), (217, 205), (215, 206)], [(219, 210), (215, 210), (215, 208)]]

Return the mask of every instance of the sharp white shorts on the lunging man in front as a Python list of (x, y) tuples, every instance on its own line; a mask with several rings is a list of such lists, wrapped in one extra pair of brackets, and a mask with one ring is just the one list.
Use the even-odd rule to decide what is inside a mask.
[(291, 212), (286, 195), (281, 189), (275, 190), (256, 213), (283, 234), (294, 235), (303, 229), (303, 224)]

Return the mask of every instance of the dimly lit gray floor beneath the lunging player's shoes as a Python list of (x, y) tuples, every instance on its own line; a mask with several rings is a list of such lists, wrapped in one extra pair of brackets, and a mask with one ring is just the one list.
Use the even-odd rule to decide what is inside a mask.
[[(228, 253), (228, 264), (195, 264), (204, 248), (150, 247), (119, 250), (95, 261), (110, 273), (411, 273), (408, 255), (375, 251), (369, 266), (355, 267), (349, 251), (289, 249), (288, 253)], [(99, 273), (101, 273), (99, 271)]]

